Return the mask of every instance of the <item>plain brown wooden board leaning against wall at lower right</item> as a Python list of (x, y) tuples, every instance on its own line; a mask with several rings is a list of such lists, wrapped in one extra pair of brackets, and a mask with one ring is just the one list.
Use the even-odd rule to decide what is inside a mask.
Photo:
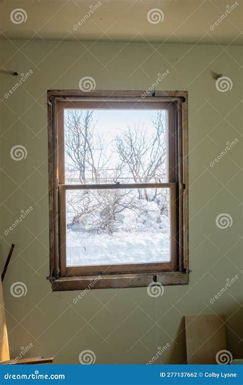
[(187, 363), (215, 364), (215, 356), (226, 350), (224, 315), (185, 316)]

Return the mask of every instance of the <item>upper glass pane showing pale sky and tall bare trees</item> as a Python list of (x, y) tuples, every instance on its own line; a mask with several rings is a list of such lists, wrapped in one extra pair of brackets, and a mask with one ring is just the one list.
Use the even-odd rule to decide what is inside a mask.
[(66, 184), (166, 183), (166, 110), (66, 109)]

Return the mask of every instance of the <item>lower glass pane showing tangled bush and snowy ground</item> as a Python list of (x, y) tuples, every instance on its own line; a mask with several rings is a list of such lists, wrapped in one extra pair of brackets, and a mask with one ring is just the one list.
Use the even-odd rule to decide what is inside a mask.
[(170, 261), (170, 189), (67, 190), (67, 266)]

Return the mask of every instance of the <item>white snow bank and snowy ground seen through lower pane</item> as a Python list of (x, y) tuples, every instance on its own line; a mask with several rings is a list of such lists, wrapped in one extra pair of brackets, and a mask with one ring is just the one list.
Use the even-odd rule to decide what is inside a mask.
[[(147, 190), (148, 193), (151, 191)], [(97, 208), (95, 204), (97, 200), (100, 201), (100, 196), (97, 196), (96, 192), (90, 192), (88, 195), (87, 192), (68, 191), (67, 201), (72, 202), (72, 207), (67, 202), (67, 266), (100, 266), (170, 260), (169, 216), (160, 213), (160, 208), (155, 201), (135, 200), (135, 193), (129, 192), (125, 200), (127, 203), (132, 194), (135, 210), (126, 208), (116, 213), (113, 232), (107, 233), (106, 229), (100, 232), (99, 228), (100, 213), (104, 205), (107, 205), (107, 201), (104, 203), (104, 200), (101, 200)], [(112, 196), (108, 196), (108, 206), (110, 201), (112, 204)], [(82, 211), (86, 199), (90, 199), (89, 207), (95, 207), (94, 212), (88, 216), (82, 215), (78, 222), (73, 223), (73, 207), (78, 212)], [(120, 201), (121, 204), (123, 202), (123, 200)]]

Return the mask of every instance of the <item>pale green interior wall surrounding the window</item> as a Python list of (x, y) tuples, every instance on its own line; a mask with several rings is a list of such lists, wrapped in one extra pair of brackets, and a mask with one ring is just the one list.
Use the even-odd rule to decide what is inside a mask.
[[(96, 363), (146, 363), (158, 346), (169, 343), (156, 363), (183, 363), (183, 316), (198, 313), (226, 315), (228, 349), (239, 357), (241, 278), (213, 303), (210, 298), (242, 270), (242, 49), (7, 40), (0, 46), (2, 265), (11, 242), (16, 245), (4, 281), (12, 358), (32, 343), (29, 355), (54, 355), (55, 363), (78, 363), (86, 349), (95, 352)], [(18, 78), (5, 70), (33, 73), (6, 98)], [(189, 286), (165, 287), (157, 298), (146, 288), (91, 290), (74, 305), (78, 292), (52, 293), (46, 279), (47, 90), (78, 89), (84, 76), (92, 76), (98, 90), (146, 90), (166, 70), (170, 73), (157, 90), (189, 93)], [(230, 77), (233, 88), (219, 92), (213, 72)], [(210, 167), (236, 138), (228, 154)], [(11, 158), (16, 145), (26, 148), (25, 159)], [(4, 235), (30, 206), (33, 210)], [(221, 213), (232, 217), (231, 227), (216, 226)], [(26, 295), (11, 295), (16, 281), (25, 283)]]

